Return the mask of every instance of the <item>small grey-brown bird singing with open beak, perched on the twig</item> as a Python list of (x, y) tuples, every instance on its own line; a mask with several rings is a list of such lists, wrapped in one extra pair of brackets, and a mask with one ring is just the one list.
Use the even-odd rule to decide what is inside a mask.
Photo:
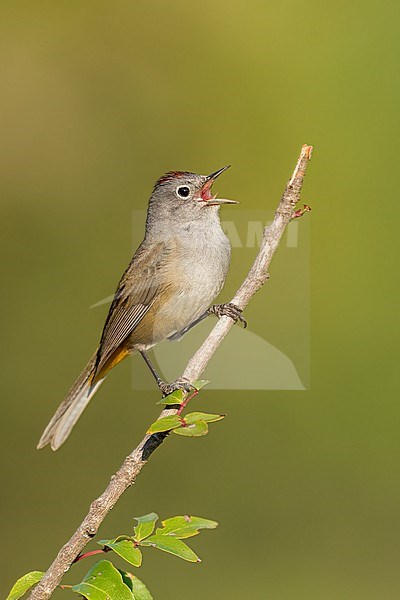
[(167, 384), (146, 352), (157, 343), (179, 339), (208, 314), (240, 320), (233, 304), (210, 307), (228, 272), (231, 247), (219, 208), (237, 204), (212, 194), (211, 175), (171, 171), (155, 184), (149, 200), (143, 242), (118, 284), (99, 346), (46, 427), (38, 448), (57, 450), (99, 389), (109, 371), (139, 352), (164, 395), (189, 390), (188, 381)]

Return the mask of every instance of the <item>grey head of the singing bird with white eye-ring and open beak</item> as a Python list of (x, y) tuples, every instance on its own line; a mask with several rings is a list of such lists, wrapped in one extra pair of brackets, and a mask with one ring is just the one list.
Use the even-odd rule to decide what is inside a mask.
[(160, 177), (150, 197), (146, 229), (161, 222), (173, 226), (210, 217), (214, 220), (222, 204), (237, 204), (235, 200), (217, 198), (211, 191), (214, 181), (229, 166), (211, 175), (170, 171)]

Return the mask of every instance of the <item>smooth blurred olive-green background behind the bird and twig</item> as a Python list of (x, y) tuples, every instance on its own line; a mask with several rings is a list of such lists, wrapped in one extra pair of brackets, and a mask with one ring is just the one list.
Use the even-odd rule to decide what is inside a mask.
[[(196, 409), (227, 419), (169, 439), (100, 538), (150, 511), (220, 522), (192, 540), (200, 565), (146, 553), (159, 600), (399, 597), (398, 23), (394, 0), (3, 0), (2, 598), (46, 570), (158, 414), (126, 361), (59, 452), (35, 449), (98, 342), (107, 306), (89, 307), (130, 259), (132, 211), (164, 171), (227, 163), (221, 194), (271, 211), (303, 143), (309, 262), (278, 254), (246, 318), (284, 351), (283, 316), (305, 319), (306, 389), (205, 390)], [(224, 299), (252, 256), (234, 255)]]

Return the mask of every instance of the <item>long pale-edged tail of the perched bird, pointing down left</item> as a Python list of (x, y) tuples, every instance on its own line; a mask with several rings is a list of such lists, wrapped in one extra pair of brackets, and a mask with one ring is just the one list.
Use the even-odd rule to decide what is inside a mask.
[(61, 402), (39, 440), (38, 449), (50, 444), (52, 450), (58, 450), (104, 381), (103, 377), (102, 379), (98, 379), (94, 385), (91, 384), (92, 374), (96, 365), (96, 356), (97, 351), (75, 381), (65, 400)]

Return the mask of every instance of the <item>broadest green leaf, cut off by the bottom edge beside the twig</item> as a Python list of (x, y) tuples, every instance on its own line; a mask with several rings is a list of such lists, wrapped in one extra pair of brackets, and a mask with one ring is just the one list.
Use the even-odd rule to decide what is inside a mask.
[(96, 563), (73, 592), (88, 600), (133, 600), (133, 592), (123, 582), (121, 573), (108, 560)]

